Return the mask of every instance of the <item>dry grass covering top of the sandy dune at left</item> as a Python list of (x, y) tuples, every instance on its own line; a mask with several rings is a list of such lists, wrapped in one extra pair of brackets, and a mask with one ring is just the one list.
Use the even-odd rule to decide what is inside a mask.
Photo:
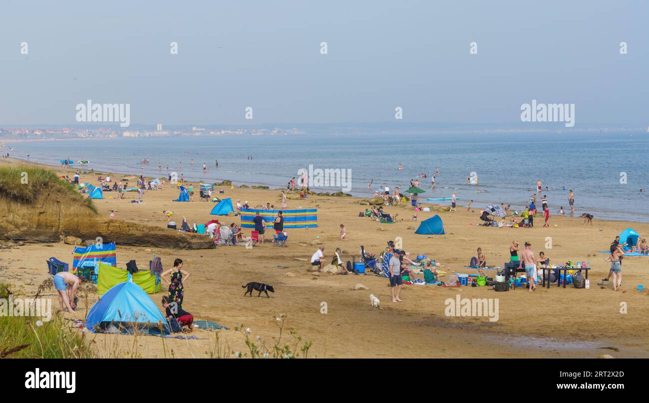
[(0, 166), (0, 194), (31, 204), (43, 191), (60, 193), (97, 212), (92, 200), (82, 197), (72, 184), (60, 180), (53, 171), (40, 167)]

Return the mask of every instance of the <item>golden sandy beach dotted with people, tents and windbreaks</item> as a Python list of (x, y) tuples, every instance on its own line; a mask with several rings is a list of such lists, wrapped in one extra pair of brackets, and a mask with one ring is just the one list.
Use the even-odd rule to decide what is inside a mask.
[[(3, 160), (0, 164), (18, 164)], [(29, 164), (29, 163), (25, 163)], [(52, 168), (60, 175), (74, 175), (73, 169)], [(116, 175), (121, 177), (121, 175)], [(80, 182), (97, 183), (97, 174), (81, 175)], [(194, 186), (197, 186), (195, 183)], [(218, 188), (218, 187), (217, 187)], [(278, 190), (223, 187), (224, 195), (233, 202), (249, 201), (251, 206), (270, 202), (280, 204)], [(114, 193), (114, 194), (113, 194)], [(198, 192), (197, 192), (198, 193)], [(175, 186), (165, 185), (158, 191), (147, 191), (143, 204), (132, 204), (135, 192), (125, 199), (110, 199), (116, 192), (104, 193), (104, 199), (95, 200), (101, 217), (117, 210), (116, 217), (142, 225), (165, 228), (163, 210), (173, 210), (175, 220), (182, 216), (190, 223), (206, 223), (218, 218), (221, 223), (239, 223), (239, 217), (213, 216), (214, 204), (200, 202), (172, 202), (178, 196)], [(308, 199), (289, 200), (288, 208), (317, 208), (318, 227), (289, 230), (288, 247), (274, 247), (272, 243), (252, 249), (242, 246), (217, 247), (207, 250), (175, 250), (117, 245), (117, 265), (125, 267), (129, 260), (143, 263), (153, 253), (162, 258), (164, 269), (171, 267), (175, 258), (184, 260), (184, 269), (191, 273), (185, 282), (183, 308), (195, 320), (210, 320), (228, 326), (219, 330), (219, 343), (227, 356), (245, 351), (241, 332), (236, 326), (250, 328), (251, 337), (271, 343), (278, 337), (276, 317), (286, 315), (285, 328), (295, 328), (304, 341), (312, 342), (309, 356), (327, 358), (345, 357), (547, 357), (596, 358), (601, 354), (615, 357), (649, 357), (649, 317), (646, 307), (649, 291), (638, 291), (646, 284), (648, 257), (625, 258), (622, 290), (613, 291), (612, 282), (600, 287), (597, 282), (608, 273), (605, 262), (611, 241), (625, 228), (635, 228), (641, 235), (649, 234), (649, 225), (625, 221), (598, 221), (585, 225), (579, 217), (550, 217), (550, 227), (542, 228), (538, 217), (533, 228), (488, 228), (469, 223), (480, 222), (479, 208), (467, 212), (461, 205), (457, 212), (439, 212), (445, 235), (415, 234), (423, 219), (434, 212), (419, 212), (413, 221), (412, 209), (407, 206), (387, 206), (385, 210), (398, 214), (393, 224), (377, 223), (367, 217), (358, 217), (366, 206), (353, 197), (310, 196)], [(504, 201), (506, 202), (506, 201)], [(347, 228), (349, 239), (339, 240), (339, 225)], [(244, 229), (249, 235), (250, 230)], [(441, 263), (439, 269), (457, 273), (477, 273), (463, 269), (476, 248), (481, 247), (488, 265), (501, 266), (509, 260), (509, 245), (517, 240), (532, 243), (535, 254), (543, 250), (552, 263), (568, 260), (590, 260), (590, 289), (572, 286), (546, 289), (537, 287), (496, 293), (491, 287), (445, 288), (440, 286), (406, 285), (402, 290), (404, 302), (390, 299), (389, 282), (374, 275), (329, 275), (310, 273), (309, 260), (313, 252), (324, 245), (325, 260), (331, 260), (334, 250), (343, 250), (343, 260), (358, 260), (361, 245), (368, 252), (378, 254), (386, 242), (400, 237), (403, 247), (411, 255), (425, 254)], [(552, 238), (552, 249), (545, 249), (546, 237)], [(15, 243), (0, 250), (0, 278), (23, 287), (30, 295), (49, 276), (45, 260), (55, 256), (71, 262), (72, 245), (66, 243)], [(591, 256), (588, 256), (591, 254)], [(593, 256), (593, 254), (596, 254)], [(494, 276), (495, 271), (487, 271)], [(243, 284), (263, 282), (275, 287), (271, 299), (244, 297)], [(354, 290), (356, 284), (368, 289)], [(55, 297), (53, 289), (48, 295)], [(369, 294), (380, 299), (380, 308), (373, 308)], [(163, 292), (151, 295), (161, 307)], [(255, 293), (256, 295), (256, 293)], [(487, 317), (449, 317), (445, 315), (445, 300), (461, 298), (498, 298), (498, 321)], [(82, 319), (97, 295), (81, 298), (76, 314), (67, 318)], [(326, 313), (321, 313), (323, 302)], [(626, 304), (626, 313), (620, 313), (620, 304)], [(58, 304), (53, 304), (58, 306)], [(214, 350), (215, 332), (197, 330), (199, 339), (165, 339), (166, 348), (173, 348), (175, 357), (208, 357)], [(125, 354), (137, 350), (143, 357), (165, 356), (160, 337), (91, 334), (95, 347), (102, 356), (114, 356), (116, 350)], [(291, 336), (286, 336), (291, 339)], [(134, 347), (134, 342), (137, 346)]]

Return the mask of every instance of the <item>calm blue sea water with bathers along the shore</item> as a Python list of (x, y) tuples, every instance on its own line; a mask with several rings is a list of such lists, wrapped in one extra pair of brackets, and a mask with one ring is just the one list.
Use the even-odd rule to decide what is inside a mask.
[[(91, 164), (83, 167), (86, 170), (160, 177), (167, 174), (169, 165), (169, 171), (178, 176), (182, 173), (186, 179), (230, 179), (236, 185), (286, 186), (291, 177), (299, 177), (299, 169), (308, 169), (310, 164), (321, 169), (351, 169), (350, 193), (363, 196), (386, 184), (391, 189), (401, 185), (403, 191), (411, 178), (426, 173), (428, 178), (420, 178), (420, 187), (426, 190), (420, 200), (450, 197), (458, 191), (462, 204), (472, 199), (478, 209), (490, 202), (522, 206), (541, 179), (543, 188), (550, 188), (541, 195), (548, 196), (551, 214), (559, 206), (569, 214), (568, 191), (561, 190), (565, 187), (574, 190), (575, 215), (589, 212), (596, 219), (649, 222), (649, 199), (640, 192), (649, 188), (649, 134), (644, 132), (295, 134), (6, 143), (14, 147), (12, 156), (25, 158), (29, 154), (30, 160), (45, 164), (58, 164), (69, 157), (75, 162), (90, 160)], [(150, 160), (143, 170), (138, 164), (142, 158)], [(202, 172), (203, 162), (207, 173)], [(404, 169), (399, 170), (398, 164)], [(437, 187), (431, 190), (437, 167)], [(467, 184), (471, 172), (478, 174), (478, 186)], [(622, 173), (626, 173), (626, 184), (620, 183)], [(367, 191), (369, 180), (374, 181), (371, 192)]]

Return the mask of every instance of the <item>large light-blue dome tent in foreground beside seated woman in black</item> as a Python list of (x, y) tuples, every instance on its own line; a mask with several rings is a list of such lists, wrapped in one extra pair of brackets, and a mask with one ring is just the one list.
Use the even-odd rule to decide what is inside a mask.
[(123, 282), (111, 287), (88, 311), (91, 332), (169, 334), (162, 312), (140, 286)]

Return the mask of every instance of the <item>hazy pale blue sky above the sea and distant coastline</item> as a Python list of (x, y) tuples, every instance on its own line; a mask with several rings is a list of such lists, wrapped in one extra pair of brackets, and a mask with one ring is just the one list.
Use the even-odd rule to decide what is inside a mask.
[(134, 124), (520, 123), (537, 99), (643, 126), (648, 41), (643, 1), (3, 0), (0, 126), (88, 99)]

